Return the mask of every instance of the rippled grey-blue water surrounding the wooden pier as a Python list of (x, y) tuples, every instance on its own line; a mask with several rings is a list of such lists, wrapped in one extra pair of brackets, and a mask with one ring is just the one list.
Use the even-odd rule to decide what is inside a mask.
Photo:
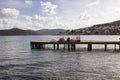
[[(32, 40), (60, 36), (0, 36), (0, 80), (120, 80), (120, 52), (86, 45), (77, 51), (31, 50)], [(76, 36), (71, 36), (75, 38)], [(66, 38), (66, 36), (65, 36)], [(82, 40), (119, 40), (120, 36), (81, 36)], [(50, 46), (49, 46), (50, 48)]]

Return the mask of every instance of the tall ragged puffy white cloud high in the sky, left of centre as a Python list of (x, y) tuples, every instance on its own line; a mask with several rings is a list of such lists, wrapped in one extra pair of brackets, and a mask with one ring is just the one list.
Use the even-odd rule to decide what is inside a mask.
[(40, 2), (42, 7), (42, 12), (46, 13), (47, 15), (56, 14), (57, 5), (52, 4), (51, 2)]

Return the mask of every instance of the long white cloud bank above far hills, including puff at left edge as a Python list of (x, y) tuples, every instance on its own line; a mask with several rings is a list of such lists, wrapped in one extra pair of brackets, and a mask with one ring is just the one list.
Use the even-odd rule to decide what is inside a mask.
[(18, 18), (20, 15), (19, 10), (15, 8), (3, 8), (0, 10), (0, 29), (54, 29), (64, 28), (65, 25), (61, 23), (60, 18), (56, 16), (24, 16), (25, 19)]

